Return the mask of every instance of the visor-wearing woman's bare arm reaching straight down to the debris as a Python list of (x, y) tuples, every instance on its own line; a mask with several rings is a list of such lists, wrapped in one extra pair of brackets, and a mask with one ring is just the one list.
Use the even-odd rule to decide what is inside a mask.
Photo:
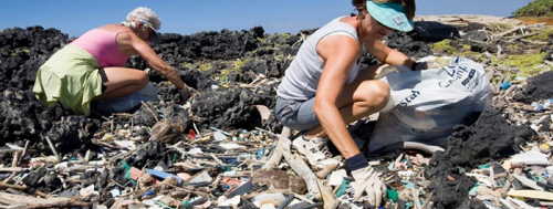
[(349, 136), (345, 122), (336, 106), (347, 75), (359, 58), (359, 45), (345, 35), (324, 38), (317, 44), (319, 55), (324, 61), (324, 70), (319, 82), (313, 111), (321, 126), (344, 158), (359, 154), (357, 145)]

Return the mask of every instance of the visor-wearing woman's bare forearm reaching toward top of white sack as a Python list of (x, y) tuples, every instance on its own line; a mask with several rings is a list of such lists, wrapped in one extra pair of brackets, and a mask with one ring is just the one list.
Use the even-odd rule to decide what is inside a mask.
[(414, 63), (409, 56), (397, 50), (388, 48), (382, 41), (367, 41), (365, 42), (365, 48), (371, 52), (371, 54), (376, 56), (376, 59), (386, 64), (405, 65), (410, 69)]

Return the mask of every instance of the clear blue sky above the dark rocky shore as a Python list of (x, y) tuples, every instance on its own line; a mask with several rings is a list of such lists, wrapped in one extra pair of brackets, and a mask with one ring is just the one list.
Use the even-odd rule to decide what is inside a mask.
[[(417, 15), (487, 14), (510, 17), (532, 0), (418, 0)], [(42, 25), (70, 36), (119, 23), (137, 7), (149, 7), (161, 18), (160, 32), (248, 30), (261, 25), (267, 33), (298, 33), (322, 27), (353, 11), (351, 0), (1, 0), (0, 30)]]

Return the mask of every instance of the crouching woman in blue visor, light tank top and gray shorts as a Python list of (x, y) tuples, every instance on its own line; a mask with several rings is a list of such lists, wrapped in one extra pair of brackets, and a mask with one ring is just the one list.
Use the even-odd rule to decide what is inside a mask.
[[(359, 151), (346, 124), (386, 106), (389, 86), (374, 80), (384, 65), (421, 70), (424, 64), (382, 42), (392, 30), (413, 30), (415, 0), (352, 0), (352, 4), (356, 15), (333, 20), (302, 44), (279, 85), (275, 113), (284, 126), (303, 130), (293, 146), (312, 166), (337, 163), (325, 147), (330, 138), (355, 179), (354, 198), (361, 201), (366, 194), (369, 203), (378, 207), (386, 186)], [(363, 48), (384, 64), (358, 69)]]

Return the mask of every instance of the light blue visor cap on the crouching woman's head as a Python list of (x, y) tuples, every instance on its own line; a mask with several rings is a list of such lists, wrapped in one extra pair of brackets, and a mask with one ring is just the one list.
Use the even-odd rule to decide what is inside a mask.
[(367, 11), (376, 21), (382, 24), (401, 32), (413, 30), (413, 20), (405, 15), (404, 6), (395, 2), (376, 3), (372, 0), (367, 1)]

